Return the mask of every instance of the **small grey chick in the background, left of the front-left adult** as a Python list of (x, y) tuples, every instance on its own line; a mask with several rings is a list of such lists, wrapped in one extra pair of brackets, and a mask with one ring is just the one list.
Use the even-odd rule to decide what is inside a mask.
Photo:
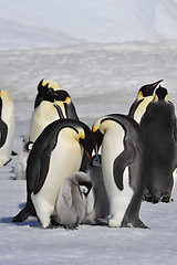
[(29, 141), (27, 138), (25, 137), (23, 138), (23, 148), (18, 156), (18, 161), (14, 167), (15, 180), (25, 180), (27, 160), (33, 146), (33, 142)]

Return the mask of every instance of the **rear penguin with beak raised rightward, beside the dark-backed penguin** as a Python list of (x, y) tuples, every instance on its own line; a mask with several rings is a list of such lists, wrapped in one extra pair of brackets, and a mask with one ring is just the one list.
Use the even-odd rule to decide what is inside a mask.
[(153, 100), (154, 91), (160, 82), (163, 82), (163, 80), (142, 86), (137, 94), (136, 100), (131, 106), (128, 116), (134, 118), (138, 124), (140, 123), (142, 116), (146, 112), (147, 105)]

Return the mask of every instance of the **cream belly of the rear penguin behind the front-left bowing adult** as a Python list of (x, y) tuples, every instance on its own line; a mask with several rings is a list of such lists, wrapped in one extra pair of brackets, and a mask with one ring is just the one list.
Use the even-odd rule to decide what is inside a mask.
[(42, 102), (38, 108), (34, 109), (30, 125), (30, 140), (35, 141), (42, 130), (54, 120), (59, 119), (58, 112), (53, 103)]

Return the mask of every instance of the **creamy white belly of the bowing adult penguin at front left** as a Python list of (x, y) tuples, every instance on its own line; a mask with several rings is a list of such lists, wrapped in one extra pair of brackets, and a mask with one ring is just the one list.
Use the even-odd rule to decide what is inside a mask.
[(55, 210), (60, 188), (69, 174), (79, 171), (83, 150), (77, 141), (65, 138), (63, 129), (52, 151), (50, 167), (43, 187), (37, 194), (31, 194), (37, 214), (45, 229), (50, 224), (50, 216)]

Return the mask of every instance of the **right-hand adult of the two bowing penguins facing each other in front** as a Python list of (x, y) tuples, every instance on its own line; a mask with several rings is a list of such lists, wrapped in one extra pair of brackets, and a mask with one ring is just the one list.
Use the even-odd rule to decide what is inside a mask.
[(95, 121), (93, 134), (95, 151), (102, 147), (102, 170), (111, 214), (107, 224), (111, 227), (147, 227), (139, 219), (146, 183), (142, 171), (140, 126), (128, 116), (112, 114)]

